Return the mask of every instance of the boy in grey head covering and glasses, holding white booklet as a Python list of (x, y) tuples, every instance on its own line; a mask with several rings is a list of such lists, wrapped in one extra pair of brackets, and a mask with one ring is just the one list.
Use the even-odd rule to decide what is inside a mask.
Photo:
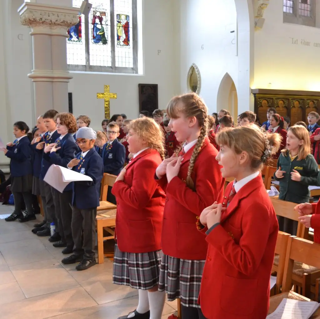
[(76, 266), (76, 270), (85, 270), (96, 264), (95, 227), (100, 200), (100, 183), (103, 177), (103, 161), (94, 147), (96, 137), (97, 134), (91, 128), (80, 128), (76, 133), (76, 143), (80, 147), (81, 153), (77, 154), (76, 158), (68, 164), (69, 169), (92, 178), (92, 181), (73, 183), (71, 226), (75, 246), (73, 255), (62, 259), (62, 263), (80, 262)]

